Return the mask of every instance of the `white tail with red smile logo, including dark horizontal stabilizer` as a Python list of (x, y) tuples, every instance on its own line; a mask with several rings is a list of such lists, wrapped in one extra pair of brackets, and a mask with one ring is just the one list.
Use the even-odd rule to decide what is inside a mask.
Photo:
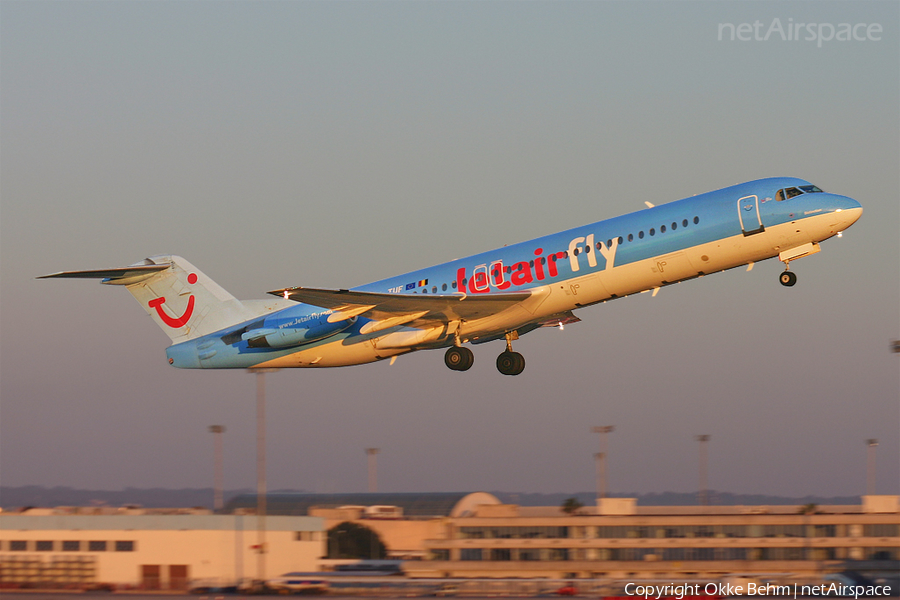
[(191, 340), (258, 316), (180, 256), (153, 256), (116, 269), (65, 271), (47, 278), (100, 279), (124, 285), (173, 343)]

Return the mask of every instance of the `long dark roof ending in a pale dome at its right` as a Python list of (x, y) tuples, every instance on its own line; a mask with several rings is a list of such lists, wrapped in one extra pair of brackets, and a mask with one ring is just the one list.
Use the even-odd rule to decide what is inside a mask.
[[(306, 515), (310, 508), (342, 506), (399, 506), (404, 517), (458, 517), (479, 504), (500, 504), (485, 492), (366, 493), (366, 494), (266, 494), (266, 514)], [(240, 494), (226, 503), (222, 512), (255, 510), (256, 494)]]

